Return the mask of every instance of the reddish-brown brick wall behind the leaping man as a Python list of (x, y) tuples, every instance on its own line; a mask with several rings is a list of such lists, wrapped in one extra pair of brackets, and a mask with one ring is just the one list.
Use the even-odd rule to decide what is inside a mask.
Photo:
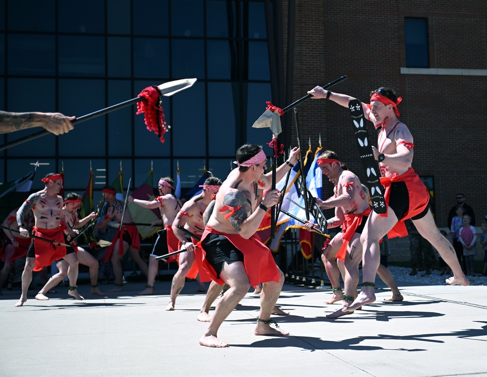
[[(460, 12), (459, 1), (366, 3), (296, 2), (293, 98), (341, 75), (348, 79), (333, 90), (362, 101), (379, 86), (392, 87), (403, 98), (400, 120), (414, 137), (413, 168), (434, 179), (437, 226), (447, 225), (457, 192), (480, 220), (487, 213), (487, 76), (407, 75), (400, 67), (406, 66), (404, 18), (426, 17), (431, 68), (486, 70), (485, 1), (462, 1)], [(283, 19), (286, 33), (287, 2)], [(309, 100), (298, 112), (303, 142), (311, 138), (314, 150), (321, 135), (322, 146), (363, 178), (348, 109)], [(296, 145), (294, 124), (284, 127), (292, 127)], [(369, 132), (375, 132), (372, 124)], [(331, 193), (332, 185), (324, 182), (323, 196)]]

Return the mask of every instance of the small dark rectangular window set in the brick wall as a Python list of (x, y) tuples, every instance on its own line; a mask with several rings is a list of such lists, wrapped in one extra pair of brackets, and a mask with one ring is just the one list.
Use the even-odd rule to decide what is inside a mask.
[(404, 19), (406, 42), (406, 67), (428, 68), (428, 21), (427, 19)]

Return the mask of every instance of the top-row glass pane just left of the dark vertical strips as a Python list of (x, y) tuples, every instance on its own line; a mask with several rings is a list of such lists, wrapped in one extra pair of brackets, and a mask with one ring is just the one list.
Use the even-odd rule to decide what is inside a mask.
[[(228, 19), (228, 8), (232, 18)], [(230, 21), (230, 23), (229, 23)], [(230, 26), (229, 26), (230, 25)], [(233, 37), (235, 32), (235, 2), (226, 0), (206, 1), (206, 36), (216, 38)], [(229, 30), (231, 29), (232, 30)]]

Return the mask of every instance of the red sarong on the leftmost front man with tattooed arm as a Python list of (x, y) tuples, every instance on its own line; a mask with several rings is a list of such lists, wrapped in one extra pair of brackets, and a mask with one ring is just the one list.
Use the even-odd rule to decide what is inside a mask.
[[(62, 229), (39, 229), (34, 226), (34, 235), (64, 244), (64, 232)], [(50, 242), (34, 238), (36, 252), (36, 266), (34, 271), (42, 270), (42, 267), (50, 266), (55, 260), (63, 259), (66, 256), (66, 246), (53, 245)]]

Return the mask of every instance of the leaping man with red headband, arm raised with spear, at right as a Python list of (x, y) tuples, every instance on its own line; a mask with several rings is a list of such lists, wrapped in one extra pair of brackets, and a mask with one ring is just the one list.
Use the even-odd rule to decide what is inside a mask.
[[(315, 98), (326, 98), (338, 105), (348, 107), (356, 98), (346, 94), (325, 91), (317, 86), (308, 94)], [(397, 105), (401, 97), (389, 88), (371, 92), (370, 104), (362, 103), (367, 119), (376, 129), (382, 127), (378, 136), (378, 148), (372, 147), (379, 162), (381, 184), (385, 188), (384, 199), (388, 206), (386, 213), (372, 212), (361, 236), (363, 246), (363, 277), (360, 294), (345, 310), (355, 310), (361, 305), (375, 301), (375, 273), (380, 263), (379, 240), (388, 234), (389, 238), (407, 235), (404, 220), (412, 219), (418, 232), (440, 253), (453, 271), (453, 277), (446, 280), (451, 285), (468, 285), (455, 250), (443, 237), (434, 223), (428, 206), (430, 193), (419, 176), (412, 169), (414, 144), (408, 127), (397, 119)]]

